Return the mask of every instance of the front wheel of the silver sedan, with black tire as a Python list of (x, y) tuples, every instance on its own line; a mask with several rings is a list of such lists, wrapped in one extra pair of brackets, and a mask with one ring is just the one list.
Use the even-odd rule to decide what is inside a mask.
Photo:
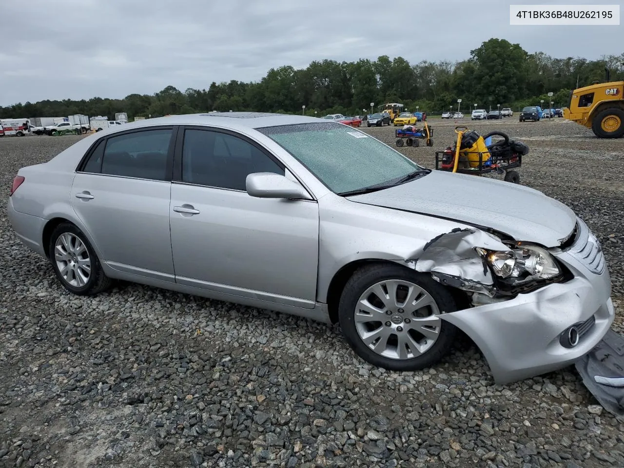
[[(396, 291), (399, 294), (395, 296), (395, 300), (409, 303), (409, 299), (401, 296), (409, 288), (408, 291), (413, 291), (414, 300), (420, 301), (422, 297), (427, 305), (413, 311), (405, 305), (404, 308), (396, 305), (385, 306), (379, 296), (372, 292), (377, 289), (385, 298), (383, 285), (398, 286)], [(386, 298), (386, 303), (389, 302)], [(366, 311), (358, 307), (360, 303), (373, 306), (369, 307), (370, 320), (366, 320)], [(358, 322), (356, 308), (358, 317), (361, 318)], [(364, 361), (394, 371), (416, 371), (438, 363), (451, 350), (457, 328), (442, 319), (436, 319), (436, 315), (441, 311), (447, 313), (456, 310), (457, 305), (446, 286), (436, 283), (430, 275), (399, 265), (368, 265), (357, 270), (344, 286), (338, 306), (338, 319), (346, 341)], [(379, 314), (379, 321), (375, 320), (376, 314)], [(361, 338), (361, 334), (370, 333), (374, 329), (385, 332), (391, 338), (386, 340), (386, 346), (379, 349), (379, 353), (369, 348)], [(427, 336), (417, 330), (424, 331)], [(411, 341), (408, 341), (409, 338)], [(408, 346), (412, 345), (409, 351), (406, 346), (398, 346), (399, 339)], [(414, 342), (421, 347), (420, 354), (415, 352)], [(379, 344), (381, 341), (376, 343)]]

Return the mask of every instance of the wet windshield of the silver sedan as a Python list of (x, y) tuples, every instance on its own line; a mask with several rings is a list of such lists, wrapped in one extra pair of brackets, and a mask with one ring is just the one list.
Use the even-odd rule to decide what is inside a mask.
[(422, 169), (379, 140), (341, 124), (257, 130), (281, 145), (334, 193), (390, 182)]

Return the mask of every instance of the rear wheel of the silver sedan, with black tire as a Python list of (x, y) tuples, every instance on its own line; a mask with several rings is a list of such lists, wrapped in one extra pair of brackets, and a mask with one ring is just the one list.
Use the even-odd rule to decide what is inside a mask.
[[(65, 240), (65, 242), (63, 240)], [(59, 243), (59, 248), (65, 251), (66, 255), (64, 255), (64, 257), (71, 256), (72, 261), (89, 261), (90, 273), (86, 278), (85, 270), (79, 267), (72, 268), (71, 270), (73, 271), (71, 275), (67, 275), (67, 278), (63, 276), (63, 273), (61, 273), (61, 264), (64, 262), (69, 266), (69, 263), (67, 260), (57, 260), (62, 258), (56, 255), (57, 253), (62, 254), (62, 251), (56, 247), (57, 243)], [(66, 248), (66, 245), (71, 245), (73, 248), (76, 248), (80, 244), (84, 246), (84, 250), (73, 256), (72, 247)], [(113, 280), (104, 275), (104, 270), (102, 270), (102, 265), (100, 265), (100, 260), (97, 258), (97, 255), (95, 255), (93, 247), (76, 225), (72, 223), (59, 224), (52, 232), (48, 253), (54, 273), (67, 291), (79, 296), (90, 296), (105, 291), (112, 286)], [(82, 274), (77, 275), (76, 273)]]

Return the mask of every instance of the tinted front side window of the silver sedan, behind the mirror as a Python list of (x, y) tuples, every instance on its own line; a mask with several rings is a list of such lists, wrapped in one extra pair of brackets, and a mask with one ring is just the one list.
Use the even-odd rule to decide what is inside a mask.
[(185, 130), (183, 182), (244, 191), (247, 176), (255, 172), (285, 174), (280, 164), (246, 140), (213, 130)]

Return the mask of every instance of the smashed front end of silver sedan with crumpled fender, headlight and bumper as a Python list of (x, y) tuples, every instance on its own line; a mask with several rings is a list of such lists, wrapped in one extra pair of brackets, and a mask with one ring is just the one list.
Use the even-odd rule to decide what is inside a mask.
[[(571, 242), (578, 246), (578, 236)], [(467, 308), (440, 317), (474, 341), (495, 382), (505, 384), (575, 363), (610, 329), (608, 271), (590, 271), (577, 250), (456, 228), (407, 265), (466, 293)]]

